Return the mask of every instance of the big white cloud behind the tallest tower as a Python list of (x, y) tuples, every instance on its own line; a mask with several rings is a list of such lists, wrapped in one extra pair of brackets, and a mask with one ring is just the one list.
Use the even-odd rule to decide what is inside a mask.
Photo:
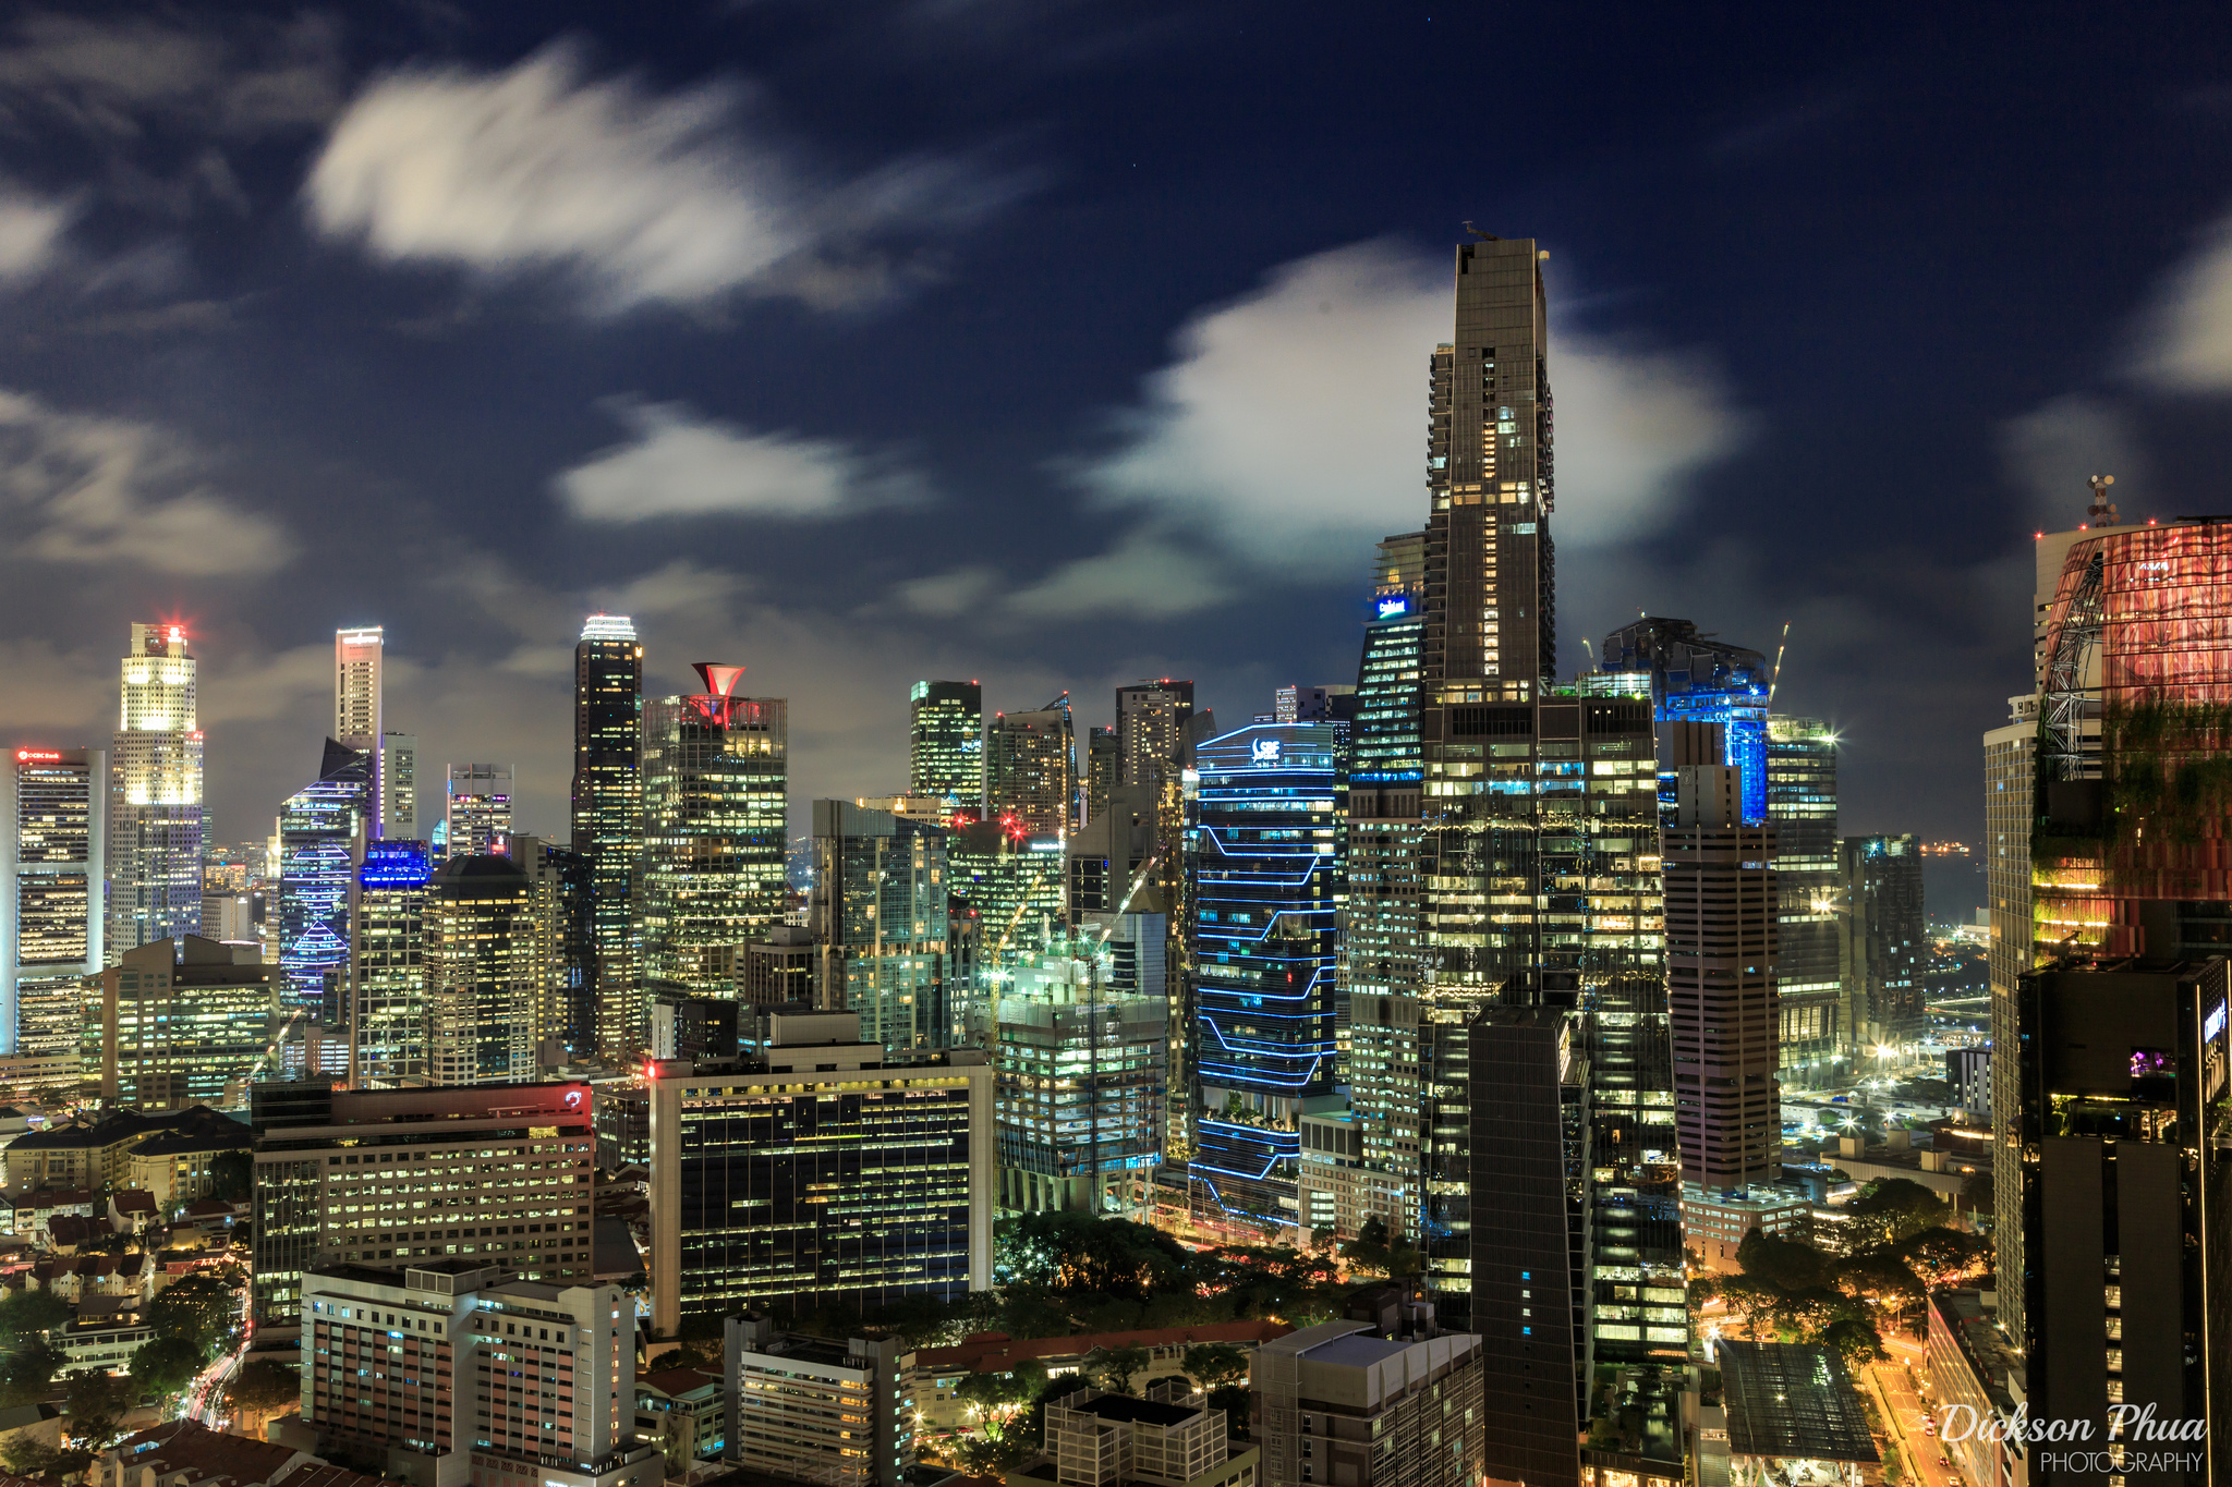
[[(1446, 263), (1391, 243), (1288, 263), (1196, 314), (1145, 408), (1123, 415), (1123, 444), (1076, 475), (1259, 562), (1355, 568), (1375, 537), (1424, 519), (1426, 368), (1451, 294)], [(1551, 368), (1560, 540), (1645, 535), (1743, 437), (1699, 354), (1553, 328)]]

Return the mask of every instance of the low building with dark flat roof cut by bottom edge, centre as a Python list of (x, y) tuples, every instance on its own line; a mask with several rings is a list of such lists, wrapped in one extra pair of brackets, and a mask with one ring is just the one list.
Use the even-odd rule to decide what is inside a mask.
[(1049, 1402), (1045, 1456), (1007, 1487), (1254, 1487), (1261, 1447), (1234, 1454), (1225, 1411), (1170, 1387), (1156, 1396), (1078, 1389)]

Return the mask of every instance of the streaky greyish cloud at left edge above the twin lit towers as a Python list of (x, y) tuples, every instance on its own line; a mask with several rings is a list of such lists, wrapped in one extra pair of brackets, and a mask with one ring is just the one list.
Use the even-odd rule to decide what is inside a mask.
[(217, 577), (270, 573), (295, 555), (275, 522), (208, 490), (165, 430), (56, 412), (20, 392), (0, 392), (0, 504), (20, 515), (16, 548), (49, 562)]

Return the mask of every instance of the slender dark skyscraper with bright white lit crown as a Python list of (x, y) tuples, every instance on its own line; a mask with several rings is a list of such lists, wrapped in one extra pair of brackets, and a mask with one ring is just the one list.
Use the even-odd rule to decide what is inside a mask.
[(589, 615), (574, 647), (574, 852), (589, 858), (594, 1039), (632, 1054), (647, 1028), (636, 932), (643, 852), (643, 644), (627, 615)]

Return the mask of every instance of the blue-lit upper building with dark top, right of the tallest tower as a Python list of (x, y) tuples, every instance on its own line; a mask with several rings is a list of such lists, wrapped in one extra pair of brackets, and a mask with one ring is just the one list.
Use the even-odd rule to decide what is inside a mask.
[[(1645, 615), (1605, 635), (1603, 671), (1647, 671), (1658, 722), (1714, 722), (1721, 762), (1743, 771), (1743, 825), (1768, 820), (1768, 658), (1701, 635), (1690, 620)], [(1674, 769), (1661, 758), (1658, 816), (1674, 823)]]

